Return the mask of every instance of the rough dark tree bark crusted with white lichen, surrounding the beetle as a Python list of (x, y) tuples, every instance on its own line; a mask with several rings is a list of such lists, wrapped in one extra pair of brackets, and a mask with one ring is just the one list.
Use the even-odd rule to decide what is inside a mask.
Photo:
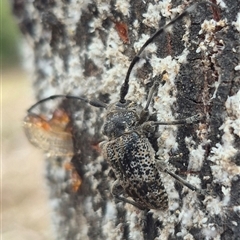
[[(61, 104), (73, 119), (71, 161), (83, 183), (72, 191), (66, 159), (46, 159), (56, 239), (240, 239), (240, 1), (217, 3), (219, 10), (198, 5), (145, 50), (127, 97), (144, 105), (153, 79), (166, 70), (151, 105), (157, 118), (206, 115), (199, 124), (159, 127), (154, 144), (172, 171), (210, 189), (215, 198), (199, 197), (162, 174), (167, 211), (115, 203), (114, 176), (97, 147), (104, 139), (104, 111), (66, 100)], [(36, 99), (69, 94), (117, 101), (136, 51), (187, 5), (183, 0), (14, 0)], [(119, 22), (127, 25), (128, 44), (118, 36)], [(47, 103), (42, 111), (57, 104)]]

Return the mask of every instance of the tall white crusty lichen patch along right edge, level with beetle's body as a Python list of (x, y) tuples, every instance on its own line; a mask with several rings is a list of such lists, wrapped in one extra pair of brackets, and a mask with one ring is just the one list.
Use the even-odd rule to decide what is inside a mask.
[(227, 99), (225, 107), (226, 117), (224, 123), (220, 127), (220, 130), (223, 131), (221, 142), (217, 143), (216, 146), (212, 148), (211, 156), (209, 157), (209, 160), (215, 164), (211, 166), (214, 176), (213, 181), (223, 184), (222, 192), (224, 198), (222, 201), (211, 197), (205, 199), (207, 210), (211, 214), (220, 215), (224, 215), (223, 207), (228, 206), (230, 201), (231, 181), (234, 176), (240, 173), (240, 167), (232, 161), (239, 152), (239, 149), (234, 147), (234, 134), (240, 136), (240, 91)]

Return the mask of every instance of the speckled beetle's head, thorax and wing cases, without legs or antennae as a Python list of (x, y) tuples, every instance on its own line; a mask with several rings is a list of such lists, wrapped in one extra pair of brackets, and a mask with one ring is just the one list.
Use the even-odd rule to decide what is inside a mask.
[(133, 103), (109, 109), (103, 127), (109, 140), (101, 143), (102, 154), (117, 178), (112, 188), (116, 197), (122, 187), (139, 208), (163, 210), (168, 206), (168, 196), (155, 164), (155, 151), (138, 124), (140, 112)]

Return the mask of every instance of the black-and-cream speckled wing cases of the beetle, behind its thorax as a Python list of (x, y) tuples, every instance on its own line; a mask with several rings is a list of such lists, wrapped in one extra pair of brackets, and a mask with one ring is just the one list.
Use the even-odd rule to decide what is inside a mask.
[(102, 143), (102, 153), (118, 179), (112, 189), (116, 197), (120, 186), (139, 208), (167, 208), (168, 196), (155, 164), (155, 151), (140, 131)]

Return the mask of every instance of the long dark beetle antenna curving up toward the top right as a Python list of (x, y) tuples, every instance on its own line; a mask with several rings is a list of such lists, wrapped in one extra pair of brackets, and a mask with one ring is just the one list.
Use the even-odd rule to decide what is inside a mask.
[[(194, 3), (192, 5), (190, 5), (188, 8), (186, 8), (182, 13), (180, 13), (177, 17), (175, 17), (172, 21), (170, 21), (169, 23), (167, 23), (166, 25), (164, 25), (163, 27), (161, 27), (159, 30), (157, 30), (141, 47), (141, 49), (138, 51), (138, 53), (135, 55), (135, 57), (133, 58), (133, 60), (130, 63), (130, 66), (128, 68), (125, 80), (121, 86), (121, 90), (120, 90), (120, 103), (125, 103), (125, 97), (128, 93), (128, 89), (129, 89), (129, 77), (130, 74), (132, 72), (133, 67), (135, 66), (135, 64), (138, 62), (138, 60), (140, 59), (140, 55), (143, 52), (143, 50), (157, 37), (159, 36), (161, 33), (163, 33), (167, 27), (173, 25), (176, 21), (178, 21), (179, 19), (183, 18), (184, 16), (188, 15), (191, 11), (193, 11), (196, 6), (200, 3), (203, 3), (202, 1)], [(217, 7), (217, 5), (215, 5), (214, 3), (211, 3), (209, 1), (204, 1), (204, 3), (210, 4), (214, 7)]]

